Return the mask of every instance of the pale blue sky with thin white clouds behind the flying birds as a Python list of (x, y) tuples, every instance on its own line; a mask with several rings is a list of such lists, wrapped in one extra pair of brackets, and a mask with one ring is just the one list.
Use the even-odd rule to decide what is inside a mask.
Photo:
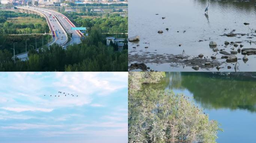
[(127, 143), (127, 86), (127, 72), (2, 72), (0, 143)]

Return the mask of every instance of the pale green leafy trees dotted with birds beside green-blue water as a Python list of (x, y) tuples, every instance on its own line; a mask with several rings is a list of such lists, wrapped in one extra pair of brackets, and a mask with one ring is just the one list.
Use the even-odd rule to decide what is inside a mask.
[[(163, 72), (129, 72), (129, 143), (215, 143), (219, 128), (188, 97), (152, 88)], [(148, 85), (151, 85), (148, 86)]]

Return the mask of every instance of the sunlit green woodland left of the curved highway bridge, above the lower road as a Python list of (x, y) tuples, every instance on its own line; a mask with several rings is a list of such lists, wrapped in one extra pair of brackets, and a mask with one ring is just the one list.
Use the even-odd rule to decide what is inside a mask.
[[(31, 23), (24, 19), (22, 23), (8, 22), (8, 18), (31, 17), (38, 19), (38, 22)], [(30, 19), (28, 19), (30, 20)], [(31, 33), (48, 33), (49, 27), (45, 18), (39, 15), (16, 13), (13, 11), (0, 11), (0, 32), (3, 34), (31, 34)]]

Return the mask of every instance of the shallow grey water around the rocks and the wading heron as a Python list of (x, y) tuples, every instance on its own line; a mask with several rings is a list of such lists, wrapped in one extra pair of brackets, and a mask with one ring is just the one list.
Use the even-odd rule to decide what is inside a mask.
[[(207, 16), (204, 10), (208, 3)], [(224, 47), (225, 41), (242, 41), (243, 48), (256, 48), (255, 30), (249, 29), (249, 27), (256, 29), (255, 4), (254, 0), (130, 0), (128, 33), (129, 36), (139, 35), (140, 41), (129, 42), (129, 65), (138, 62), (145, 63), (151, 69), (158, 71), (194, 71), (191, 66), (180, 63), (148, 61), (150, 57), (157, 58), (158, 56), (153, 56), (156, 54), (177, 55), (182, 54), (184, 50), (185, 55), (197, 57), (203, 54), (209, 60), (212, 55), (216, 55), (217, 61), (223, 62), (220, 71), (235, 71), (234, 63), (226, 63), (226, 59), (221, 59), (223, 54), (213, 52), (209, 43), (216, 42), (219, 50), (225, 49), (228, 53), (234, 46)], [(249, 27), (244, 25), (244, 22), (250, 23)], [(169, 30), (166, 31), (165, 28)], [(164, 33), (158, 34), (159, 30)], [(220, 36), (233, 30), (235, 30), (234, 34), (248, 35)], [(249, 41), (252, 41), (251, 44)], [(140, 46), (137, 47), (137, 44)], [(237, 51), (238, 47), (234, 50)], [(132, 57), (135, 54), (138, 56)], [(243, 58), (244, 55), (238, 53), (237, 57)], [(249, 61), (246, 63), (238, 60), (238, 71), (256, 71), (255, 62), (256, 55), (249, 55)], [(231, 69), (228, 69), (228, 66), (231, 66)], [(200, 68), (198, 71), (217, 71), (217, 69), (216, 67)]]

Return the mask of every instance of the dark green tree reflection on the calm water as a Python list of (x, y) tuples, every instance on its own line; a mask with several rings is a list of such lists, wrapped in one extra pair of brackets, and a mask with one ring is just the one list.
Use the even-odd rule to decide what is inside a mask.
[(168, 85), (165, 87), (188, 89), (193, 93), (196, 102), (200, 102), (205, 108), (240, 108), (256, 111), (256, 82), (243, 76), (220, 76), (212, 73), (166, 73), (166, 78), (163, 81), (168, 77), (174, 78), (168, 81)]

